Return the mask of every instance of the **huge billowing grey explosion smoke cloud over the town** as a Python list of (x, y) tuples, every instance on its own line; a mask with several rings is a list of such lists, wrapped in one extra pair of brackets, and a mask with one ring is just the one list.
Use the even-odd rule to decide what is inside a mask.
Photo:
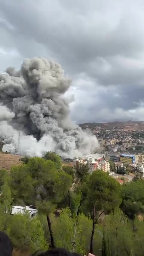
[(8, 68), (0, 75), (0, 139), (3, 150), (42, 156), (55, 151), (62, 157), (90, 154), (98, 146), (95, 136), (70, 120), (64, 97), (71, 81), (58, 63), (43, 58), (25, 59), (21, 69)]

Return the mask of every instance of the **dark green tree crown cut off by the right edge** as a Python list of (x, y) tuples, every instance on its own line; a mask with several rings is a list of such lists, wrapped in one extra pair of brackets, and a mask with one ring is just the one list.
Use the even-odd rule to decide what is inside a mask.
[(144, 212), (144, 180), (132, 181), (122, 186), (120, 207), (130, 219)]

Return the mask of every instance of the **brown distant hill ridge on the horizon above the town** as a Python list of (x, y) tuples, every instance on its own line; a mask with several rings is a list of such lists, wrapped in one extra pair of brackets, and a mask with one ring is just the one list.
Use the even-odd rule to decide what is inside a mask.
[(119, 127), (121, 130), (144, 130), (144, 121), (116, 121), (108, 123), (81, 123), (82, 129), (95, 129), (97, 126), (104, 129), (113, 129)]

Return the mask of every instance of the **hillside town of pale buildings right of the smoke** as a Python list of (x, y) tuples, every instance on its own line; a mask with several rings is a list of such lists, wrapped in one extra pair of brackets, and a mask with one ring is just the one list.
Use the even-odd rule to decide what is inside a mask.
[(95, 154), (73, 160), (87, 164), (89, 172), (101, 169), (115, 176), (133, 173), (144, 178), (144, 122), (111, 122), (80, 124), (95, 134), (99, 148)]

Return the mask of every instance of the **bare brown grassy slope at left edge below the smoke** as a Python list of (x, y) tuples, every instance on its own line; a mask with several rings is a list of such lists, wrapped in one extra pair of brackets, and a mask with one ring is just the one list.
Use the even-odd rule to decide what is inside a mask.
[(20, 158), (20, 155), (0, 153), (0, 169), (10, 170), (12, 165), (20, 165), (22, 163), (19, 161)]

